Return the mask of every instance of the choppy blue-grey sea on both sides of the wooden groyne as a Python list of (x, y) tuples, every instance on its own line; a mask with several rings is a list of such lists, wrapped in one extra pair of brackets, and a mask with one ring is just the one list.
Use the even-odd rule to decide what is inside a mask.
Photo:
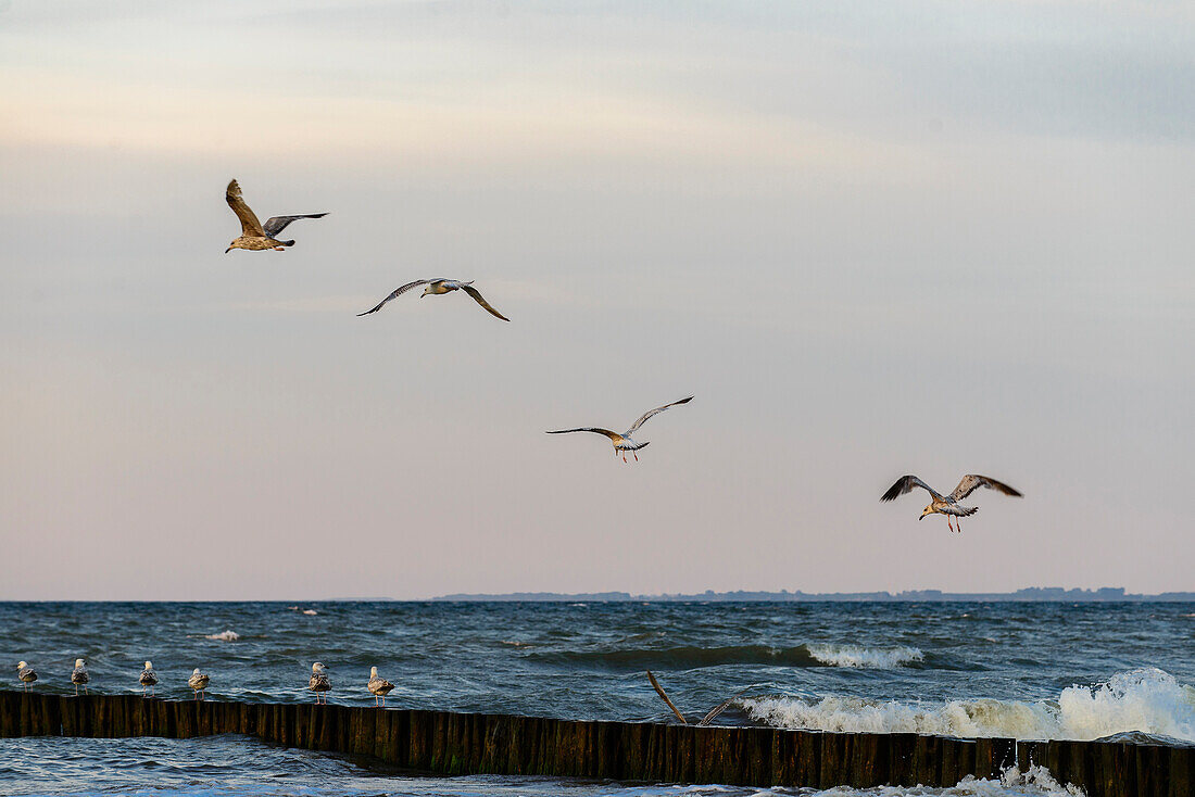
[[(0, 603), (0, 688), (329, 701), (669, 722), (646, 670), (690, 717), (829, 731), (1195, 744), (1195, 603), (1178, 602), (61, 602)], [(0, 795), (673, 797), (1074, 795), (1040, 767), (946, 789), (742, 789), (570, 778), (415, 775), (243, 736), (0, 740)]]

